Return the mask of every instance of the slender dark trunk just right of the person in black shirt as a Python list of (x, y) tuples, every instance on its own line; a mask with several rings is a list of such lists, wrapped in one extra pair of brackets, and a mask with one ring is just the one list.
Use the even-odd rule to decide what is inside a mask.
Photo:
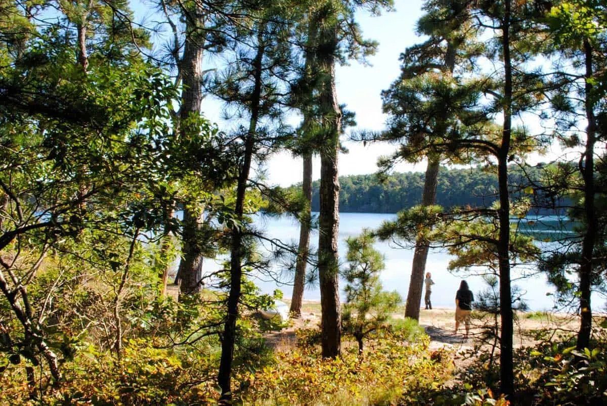
[(510, 63), (510, 0), (504, 2), (502, 21), (502, 47), (504, 57), (504, 126), (498, 152), (498, 183), (500, 210), (498, 212), (500, 234), (498, 239), (498, 261), (500, 265), (500, 379), (501, 393), (512, 401), (514, 395), (514, 371), (512, 364), (512, 293), (510, 291), (510, 196), (508, 192), (508, 157), (510, 154), (510, 129), (512, 126), (512, 66)]

